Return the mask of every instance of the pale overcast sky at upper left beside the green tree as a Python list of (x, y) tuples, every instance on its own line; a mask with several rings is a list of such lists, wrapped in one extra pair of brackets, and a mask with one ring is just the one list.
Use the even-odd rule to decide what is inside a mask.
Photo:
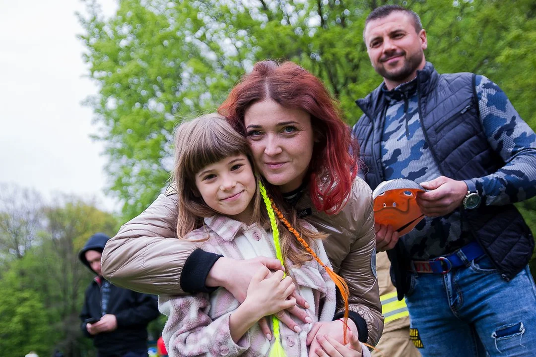
[[(100, 3), (108, 15), (116, 8)], [(78, 0), (0, 0), (0, 183), (94, 198), (111, 211), (106, 158), (81, 105), (97, 88), (83, 77), (76, 11), (84, 11)]]

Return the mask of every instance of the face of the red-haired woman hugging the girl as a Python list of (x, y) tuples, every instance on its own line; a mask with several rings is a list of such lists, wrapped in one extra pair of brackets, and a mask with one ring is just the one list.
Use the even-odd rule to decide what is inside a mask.
[(245, 111), (244, 124), (264, 178), (283, 193), (300, 187), (315, 142), (309, 113), (264, 100)]

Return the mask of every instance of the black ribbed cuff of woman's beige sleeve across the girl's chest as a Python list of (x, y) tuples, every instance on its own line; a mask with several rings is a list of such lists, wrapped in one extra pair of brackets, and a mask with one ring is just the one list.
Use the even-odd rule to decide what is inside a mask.
[(189, 294), (194, 293), (211, 293), (217, 287), (208, 287), (205, 285), (206, 277), (214, 263), (223, 255), (205, 252), (202, 249), (196, 249), (190, 254), (184, 262), (181, 273), (181, 288)]

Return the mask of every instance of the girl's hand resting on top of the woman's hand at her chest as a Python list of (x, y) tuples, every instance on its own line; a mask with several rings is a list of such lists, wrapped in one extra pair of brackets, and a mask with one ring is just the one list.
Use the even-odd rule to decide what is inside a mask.
[(247, 297), (243, 305), (248, 305), (258, 317), (273, 315), (296, 305), (296, 299), (290, 295), (296, 290), (292, 278), (283, 278), (278, 270), (269, 276), (266, 267), (258, 269), (249, 283)]

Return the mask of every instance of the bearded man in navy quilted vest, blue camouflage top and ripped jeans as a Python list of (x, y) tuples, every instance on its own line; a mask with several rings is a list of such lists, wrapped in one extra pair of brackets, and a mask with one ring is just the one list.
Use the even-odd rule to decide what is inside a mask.
[(411, 339), (423, 356), (533, 355), (534, 241), (512, 203), (536, 195), (536, 135), (494, 82), (426, 62), (413, 11), (378, 7), (363, 37), (383, 77), (357, 101), (365, 179), (373, 189), (396, 178), (427, 189), (416, 198), (425, 218), (411, 232), (376, 227)]

